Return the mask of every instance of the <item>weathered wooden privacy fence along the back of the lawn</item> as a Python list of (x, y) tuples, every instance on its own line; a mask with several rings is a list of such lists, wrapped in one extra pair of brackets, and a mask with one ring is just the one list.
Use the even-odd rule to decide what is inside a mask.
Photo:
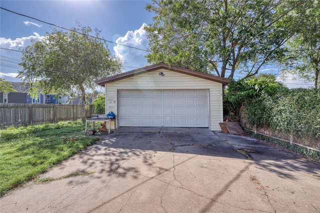
[[(86, 105), (85, 117), (94, 114), (93, 105)], [(78, 104), (3, 104), (0, 103), (0, 129), (9, 126), (53, 123), (81, 118)]]

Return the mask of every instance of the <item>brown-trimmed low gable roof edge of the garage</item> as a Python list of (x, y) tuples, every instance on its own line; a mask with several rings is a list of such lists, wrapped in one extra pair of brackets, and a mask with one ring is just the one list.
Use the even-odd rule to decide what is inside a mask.
[(190, 70), (190, 69), (186, 69), (186, 68), (182, 68), (182, 67), (177, 67), (177, 66), (169, 67), (169, 65), (167, 65), (166, 63), (158, 63), (158, 64), (142, 67), (139, 69), (134, 69), (134, 70), (131, 70), (128, 72), (123, 72), (123, 73), (120, 73), (120, 74), (117, 74), (114, 76), (110, 76), (107, 78), (103, 78), (100, 80), (96, 80), (95, 83), (100, 86), (104, 86), (104, 84), (107, 84), (107, 83), (122, 80), (125, 78), (129, 78), (129, 77), (140, 75), (140, 74), (147, 73), (147, 72), (152, 72), (154, 70), (159, 70), (159, 69), (166, 69), (166, 70), (170, 70), (173, 72), (179, 72), (179, 73), (191, 75), (191, 76), (198, 77), (198, 78), (203, 78), (203, 79), (206, 79), (209, 81), (218, 82), (221, 84), (228, 84), (231, 81), (226, 78), (221, 78), (221, 77), (207, 74), (207, 73), (203, 73), (203, 72), (198, 72), (198, 71), (194, 71), (194, 70)]

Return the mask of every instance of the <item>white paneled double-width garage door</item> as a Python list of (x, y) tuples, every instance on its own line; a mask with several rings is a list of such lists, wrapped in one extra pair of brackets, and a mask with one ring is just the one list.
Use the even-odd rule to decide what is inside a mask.
[(119, 90), (119, 127), (209, 127), (209, 91)]

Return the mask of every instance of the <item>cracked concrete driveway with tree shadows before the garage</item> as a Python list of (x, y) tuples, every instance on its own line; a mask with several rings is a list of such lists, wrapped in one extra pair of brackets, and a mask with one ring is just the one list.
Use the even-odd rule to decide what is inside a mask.
[(208, 129), (119, 129), (43, 178), (60, 179), (12, 191), (0, 212), (320, 211), (320, 165)]

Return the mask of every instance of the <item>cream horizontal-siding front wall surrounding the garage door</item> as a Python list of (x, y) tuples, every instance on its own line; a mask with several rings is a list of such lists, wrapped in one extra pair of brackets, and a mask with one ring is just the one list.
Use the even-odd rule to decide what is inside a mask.
[[(159, 75), (163, 73), (163, 76)], [(221, 131), (223, 121), (222, 84), (190, 75), (160, 69), (105, 84), (105, 113), (117, 116), (117, 91), (124, 89), (209, 89), (210, 130)]]

